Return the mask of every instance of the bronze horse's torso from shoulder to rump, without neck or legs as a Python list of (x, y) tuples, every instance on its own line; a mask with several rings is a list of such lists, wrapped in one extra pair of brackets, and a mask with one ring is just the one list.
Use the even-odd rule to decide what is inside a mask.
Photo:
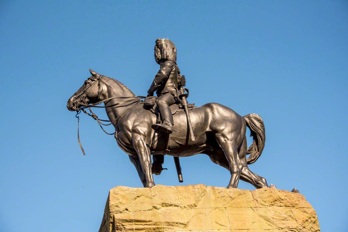
[[(181, 151), (183, 154), (194, 155), (207, 149), (212, 143), (211, 138), (216, 132), (228, 129), (239, 131), (245, 135), (245, 120), (234, 110), (219, 103), (207, 103), (189, 110), (193, 133), (196, 140), (192, 141), (189, 135), (187, 117), (184, 111), (173, 115), (175, 131), (169, 135), (168, 149), (174, 153)], [(163, 133), (155, 133), (151, 124), (156, 123), (157, 115), (145, 108), (137, 108), (125, 115), (119, 123), (119, 132), (122, 142), (131, 144), (132, 132), (148, 135), (148, 143), (153, 154), (158, 154), (166, 149)], [(209, 137), (211, 134), (212, 137)], [(171, 152), (169, 152), (171, 153)]]

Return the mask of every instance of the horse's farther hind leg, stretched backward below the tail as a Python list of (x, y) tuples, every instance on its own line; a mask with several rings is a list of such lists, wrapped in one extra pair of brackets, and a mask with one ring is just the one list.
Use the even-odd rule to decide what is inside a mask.
[(244, 138), (242, 147), (240, 148), (238, 153), (239, 160), (243, 165), (242, 173), (240, 174), (240, 179), (242, 179), (245, 182), (251, 183), (252, 185), (254, 185), (256, 189), (268, 187), (266, 179), (264, 179), (262, 176), (256, 175), (248, 168), (246, 162), (246, 150), (247, 144), (246, 138)]

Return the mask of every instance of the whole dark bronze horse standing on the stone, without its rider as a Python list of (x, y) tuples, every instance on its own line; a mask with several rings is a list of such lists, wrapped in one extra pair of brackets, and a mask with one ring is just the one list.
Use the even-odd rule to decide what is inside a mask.
[[(157, 116), (143, 107), (127, 86), (110, 77), (90, 71), (84, 85), (68, 100), (67, 108), (77, 111), (82, 106), (104, 102), (105, 110), (115, 127), (119, 147), (129, 155), (144, 187), (155, 185), (151, 171), (151, 154), (187, 157), (206, 154), (231, 173), (228, 188), (237, 188), (239, 179), (255, 188), (268, 187), (266, 179), (248, 168), (261, 155), (265, 142), (264, 124), (257, 114), (244, 117), (218, 103), (207, 103), (190, 111), (195, 141), (189, 139), (184, 111), (174, 115), (174, 131), (166, 144), (165, 134), (155, 133), (151, 125)], [(98, 82), (98, 84), (95, 84)], [(111, 98), (110, 100), (108, 100)], [(246, 126), (253, 136), (247, 148)], [(167, 145), (167, 146), (166, 146)], [(246, 158), (247, 154), (251, 154)]]

